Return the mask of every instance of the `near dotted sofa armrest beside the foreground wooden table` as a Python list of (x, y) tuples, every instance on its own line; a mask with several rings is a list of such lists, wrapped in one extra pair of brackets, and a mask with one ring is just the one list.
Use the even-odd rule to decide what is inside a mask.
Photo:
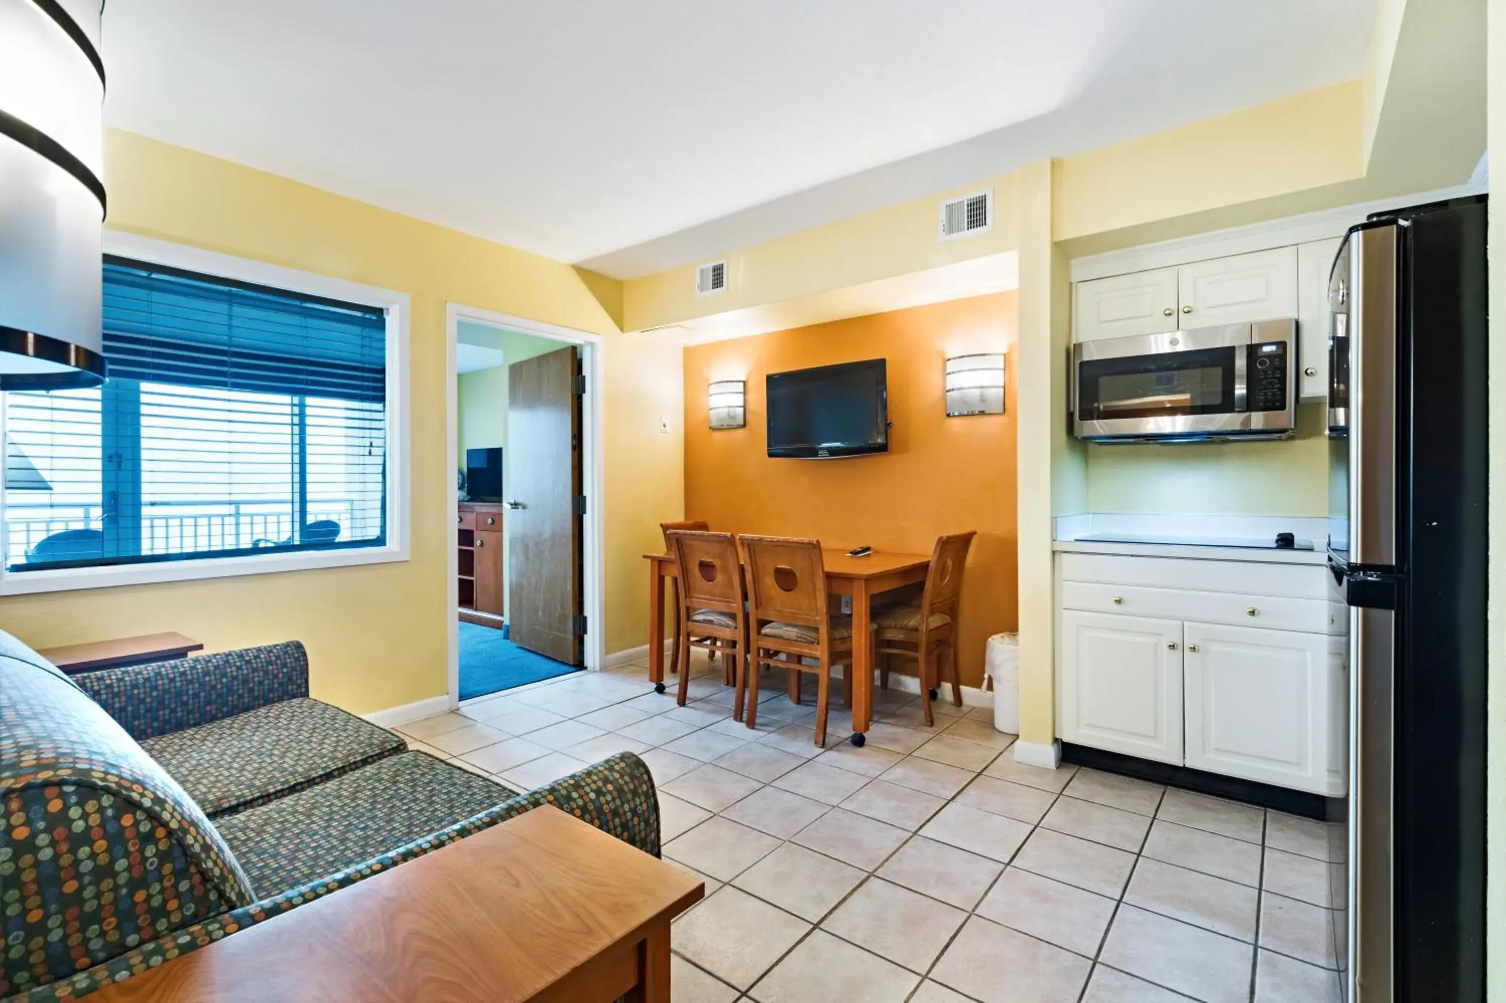
[(155, 968), (164, 961), (172, 961), (190, 950), (221, 940), (238, 929), (280, 916), (304, 902), (324, 898), (357, 881), (381, 873), (383, 870), (390, 870), (401, 863), (479, 833), (483, 828), (530, 812), (541, 804), (553, 804), (562, 812), (590, 822), (604, 833), (616, 836), (654, 857), (660, 855), (660, 813), (654, 777), (642, 759), (633, 753), (617, 753), (610, 759), (602, 759), (595, 765), (586, 767), (580, 773), (572, 773), (538, 791), (503, 801), (480, 815), (456, 822), (407, 846), (399, 846), (381, 857), (364, 860), (327, 878), (310, 881), (306, 886), (289, 889), (270, 899), (262, 899), (261, 902), (253, 902), (252, 905), (185, 926), (111, 961), (86, 968), (60, 982), (38, 986), (29, 994), (14, 998), (26, 1000), (26, 1003), (56, 1003), (59, 998), (87, 995), (131, 974)]

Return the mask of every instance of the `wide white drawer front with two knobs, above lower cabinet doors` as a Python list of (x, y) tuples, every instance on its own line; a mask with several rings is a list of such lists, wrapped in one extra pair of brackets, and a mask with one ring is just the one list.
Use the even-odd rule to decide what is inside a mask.
[(1188, 592), (1185, 589), (1148, 589), (1143, 586), (1062, 583), (1062, 605), (1089, 613), (1157, 616), (1202, 623), (1258, 626), (1309, 634), (1339, 633), (1330, 625), (1328, 604), (1313, 599), (1288, 599), (1274, 595), (1236, 595), (1230, 592)]

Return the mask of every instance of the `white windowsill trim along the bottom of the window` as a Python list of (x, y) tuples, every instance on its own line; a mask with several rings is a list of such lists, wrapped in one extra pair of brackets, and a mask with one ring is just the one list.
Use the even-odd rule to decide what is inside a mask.
[(355, 568), (408, 560), (407, 548), (364, 547), (351, 550), (316, 550), (265, 557), (199, 557), (193, 560), (163, 560), (143, 565), (105, 565), (99, 568), (56, 568), (53, 571), (12, 571), (0, 575), (0, 596), (35, 595), (39, 592), (74, 592), (77, 589), (113, 589), (117, 586), (157, 584), (164, 581), (202, 581), (206, 578), (238, 578), (285, 571), (316, 571), (321, 568)]

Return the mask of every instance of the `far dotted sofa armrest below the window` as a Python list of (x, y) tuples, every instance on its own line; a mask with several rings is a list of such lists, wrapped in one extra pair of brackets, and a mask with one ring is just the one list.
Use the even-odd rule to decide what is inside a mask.
[(309, 696), (309, 654), (283, 642), (86, 672), (74, 682), (140, 741)]

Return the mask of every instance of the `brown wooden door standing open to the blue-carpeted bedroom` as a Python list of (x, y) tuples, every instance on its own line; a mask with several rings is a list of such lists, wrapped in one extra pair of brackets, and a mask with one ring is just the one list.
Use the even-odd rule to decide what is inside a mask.
[(581, 664), (580, 349), (508, 366), (508, 622), (511, 639)]

